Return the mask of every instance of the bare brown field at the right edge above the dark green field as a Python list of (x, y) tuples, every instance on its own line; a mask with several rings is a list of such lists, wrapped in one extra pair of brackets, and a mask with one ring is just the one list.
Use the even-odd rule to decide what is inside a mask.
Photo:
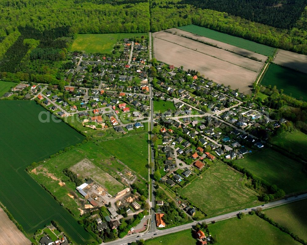
[(274, 63), (307, 73), (307, 55), (300, 55), (279, 49), (275, 56)]

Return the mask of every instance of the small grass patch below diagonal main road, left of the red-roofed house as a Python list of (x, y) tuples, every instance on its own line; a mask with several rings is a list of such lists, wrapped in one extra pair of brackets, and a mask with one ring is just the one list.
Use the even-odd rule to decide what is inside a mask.
[(159, 236), (145, 241), (145, 245), (195, 245), (196, 239), (192, 237), (191, 230), (175, 232), (164, 236)]

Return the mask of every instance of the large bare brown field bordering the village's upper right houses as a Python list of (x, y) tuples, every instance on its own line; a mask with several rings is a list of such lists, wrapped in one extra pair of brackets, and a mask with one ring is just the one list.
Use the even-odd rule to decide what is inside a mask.
[[(154, 33), (155, 37), (156, 35), (160, 36), (161, 34)], [(165, 62), (167, 64), (174, 65), (175, 67), (183, 66), (184, 70), (186, 71), (188, 69), (199, 71), (200, 74), (204, 78), (212, 79), (214, 82), (217, 82), (220, 84), (223, 83), (225, 85), (230, 85), (232, 89), (239, 88), (239, 91), (242, 93), (251, 94), (251, 88), (248, 86), (252, 85), (252, 83), (255, 82), (258, 76), (258, 72), (251, 71), (251, 70), (248, 70), (246, 68), (236, 65), (235, 63), (240, 63), (240, 62), (242, 64), (241, 58), (237, 59), (238, 55), (233, 54), (231, 52), (227, 52), (231, 54), (232, 56), (228, 56), (228, 55), (227, 57), (223, 56), (224, 60), (221, 60), (221, 59), (215, 58), (218, 55), (220, 56), (224, 55), (222, 52), (225, 52), (225, 51), (221, 49), (214, 48), (206, 44), (201, 44), (199, 42), (196, 42), (196, 41), (193, 41), (187, 38), (183, 38), (180, 36), (175, 36), (172, 34), (169, 34), (169, 35), (171, 35), (172, 38), (178, 38), (178, 40), (176, 41), (177, 44), (174, 44), (169, 41), (161, 40), (159, 38), (154, 38), (154, 42), (153, 42), (154, 56), (157, 60)], [(184, 39), (185, 41), (181, 42), (181, 39)], [(185, 48), (183, 47), (184, 45), (188, 45), (188, 47), (197, 46), (199, 48), (197, 48), (197, 51), (196, 51), (190, 48)], [(208, 49), (208, 47), (212, 49), (210, 51), (211, 54), (213, 54), (213, 52), (216, 52), (216, 54), (214, 55), (215, 57), (202, 53), (202, 50), (204, 50), (205, 48)], [(229, 61), (226, 61), (226, 58), (229, 60), (231, 59), (231, 57), (233, 57), (232, 63)], [(242, 56), (239, 56), (239, 57), (242, 57)], [(251, 59), (244, 58), (244, 57), (242, 58), (251, 60)], [(257, 62), (257, 61), (255, 62), (260, 64), (260, 66), (258, 66), (258, 70), (260, 71), (261, 68), (259, 67), (262, 67), (263, 63)]]

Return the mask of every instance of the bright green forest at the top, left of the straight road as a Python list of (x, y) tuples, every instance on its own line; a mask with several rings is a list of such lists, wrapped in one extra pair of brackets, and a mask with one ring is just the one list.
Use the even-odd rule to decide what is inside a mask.
[(111, 1), (0, 0), (0, 36), (26, 25), (41, 31), (65, 25), (71, 26), (74, 33), (146, 33), (150, 30), (148, 2), (108, 2)]

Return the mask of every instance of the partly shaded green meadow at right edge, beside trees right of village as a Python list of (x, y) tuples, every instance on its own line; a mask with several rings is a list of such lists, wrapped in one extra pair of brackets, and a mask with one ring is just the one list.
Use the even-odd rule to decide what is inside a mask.
[(305, 159), (307, 152), (307, 135), (301, 131), (284, 132), (272, 139), (272, 143), (288, 151), (301, 154)]

